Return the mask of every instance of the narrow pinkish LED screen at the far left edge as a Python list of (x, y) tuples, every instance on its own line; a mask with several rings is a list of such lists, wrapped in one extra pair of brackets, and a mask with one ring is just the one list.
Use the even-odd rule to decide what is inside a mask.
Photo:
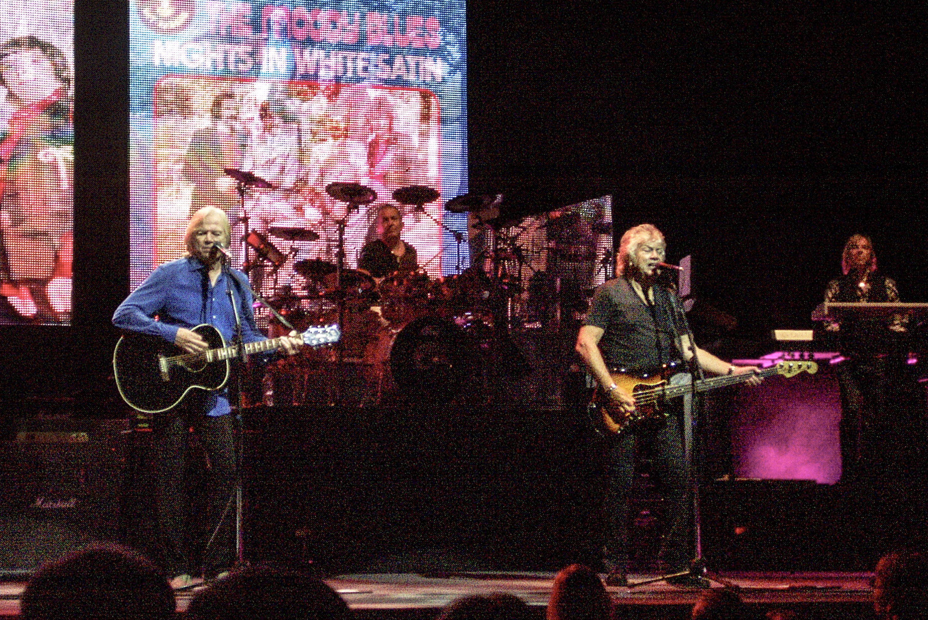
[(71, 323), (72, 0), (0, 1), (0, 324)]

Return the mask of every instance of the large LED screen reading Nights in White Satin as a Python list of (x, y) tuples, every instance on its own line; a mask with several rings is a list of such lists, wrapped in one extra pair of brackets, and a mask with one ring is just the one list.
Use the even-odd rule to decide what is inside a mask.
[(340, 252), (356, 268), (385, 203), (429, 278), (469, 265), (443, 206), (467, 191), (464, 22), (463, 2), (133, 0), (131, 285), (208, 205), (269, 298), (316, 294)]

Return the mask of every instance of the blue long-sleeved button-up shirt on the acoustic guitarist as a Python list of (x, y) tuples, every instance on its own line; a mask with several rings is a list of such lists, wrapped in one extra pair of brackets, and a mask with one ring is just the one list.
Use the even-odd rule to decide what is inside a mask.
[[(238, 304), (244, 341), (263, 341), (264, 335), (254, 324), (248, 278), (237, 269), (232, 269), (231, 273), (238, 279), (238, 286), (227, 279), (225, 270), (216, 283), (211, 284), (207, 266), (195, 258), (180, 258), (159, 265), (116, 308), (113, 325), (174, 342), (178, 329), (208, 323), (219, 330), (226, 342), (231, 342), (236, 330), (235, 313), (226, 292), (231, 289)], [(205, 394), (205, 413), (223, 416), (229, 412), (226, 388)]]

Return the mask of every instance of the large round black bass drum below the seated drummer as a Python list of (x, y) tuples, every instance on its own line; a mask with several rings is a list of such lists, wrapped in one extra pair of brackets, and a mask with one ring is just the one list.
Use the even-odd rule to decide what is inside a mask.
[(480, 372), (468, 334), (451, 321), (422, 316), (396, 334), (390, 350), (393, 381), (410, 396), (448, 398)]

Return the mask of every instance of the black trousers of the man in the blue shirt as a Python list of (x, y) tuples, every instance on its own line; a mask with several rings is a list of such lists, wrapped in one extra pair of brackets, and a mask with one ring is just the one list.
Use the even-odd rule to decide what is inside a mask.
[[(159, 547), (164, 570), (169, 575), (199, 575), (193, 565), (196, 559), (200, 559), (207, 574), (227, 570), (235, 557), (235, 505), (229, 503), (236, 482), (233, 416), (211, 418), (182, 413), (159, 416), (154, 422), (153, 440)], [(205, 461), (206, 514), (194, 509), (203, 502), (194, 501), (187, 480), (194, 446), (202, 448)], [(212, 544), (203, 549), (224, 512), (225, 518)], [(194, 523), (199, 526), (193, 526)], [(205, 539), (200, 536), (204, 525)]]

